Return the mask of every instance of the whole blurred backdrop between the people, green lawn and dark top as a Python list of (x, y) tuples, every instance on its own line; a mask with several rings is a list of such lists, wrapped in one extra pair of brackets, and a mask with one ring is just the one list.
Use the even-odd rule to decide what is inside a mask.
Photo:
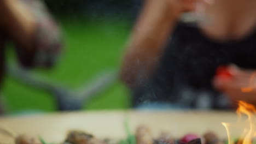
[[(140, 8), (139, 1), (45, 2), (62, 27), (65, 49), (53, 69), (35, 69), (33, 74), (74, 89), (106, 70), (119, 70), (124, 45)], [(13, 53), (9, 49), (9, 62), (15, 61)], [(8, 113), (56, 111), (55, 99), (50, 93), (24, 85), (10, 75), (5, 80), (3, 95)], [(130, 107), (130, 94), (117, 81), (83, 107), (85, 110), (126, 109)]]

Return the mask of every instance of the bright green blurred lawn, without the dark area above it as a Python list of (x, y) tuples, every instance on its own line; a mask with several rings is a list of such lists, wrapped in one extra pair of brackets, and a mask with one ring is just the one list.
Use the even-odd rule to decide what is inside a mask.
[[(125, 19), (61, 18), (65, 49), (51, 70), (34, 70), (40, 76), (76, 88), (103, 70), (119, 69), (130, 23)], [(51, 94), (22, 85), (10, 76), (3, 95), (9, 113), (21, 110), (55, 111)], [(130, 107), (127, 89), (120, 82), (84, 105), (84, 109), (126, 109)]]

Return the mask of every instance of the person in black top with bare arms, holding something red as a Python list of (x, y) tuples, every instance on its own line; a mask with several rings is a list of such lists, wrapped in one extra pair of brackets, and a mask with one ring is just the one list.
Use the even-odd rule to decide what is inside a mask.
[[(121, 77), (134, 107), (231, 109), (256, 104), (256, 1), (146, 0)], [(190, 12), (195, 21), (182, 21)], [(191, 17), (190, 17), (191, 18)], [(224, 65), (230, 77), (216, 76)], [(251, 83), (249, 81), (251, 80)]]

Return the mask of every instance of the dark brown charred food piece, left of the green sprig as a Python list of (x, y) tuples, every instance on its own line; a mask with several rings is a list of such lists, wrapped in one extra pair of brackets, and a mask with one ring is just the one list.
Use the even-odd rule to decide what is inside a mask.
[(72, 144), (104, 144), (103, 141), (97, 140), (93, 135), (83, 131), (69, 131), (65, 142)]

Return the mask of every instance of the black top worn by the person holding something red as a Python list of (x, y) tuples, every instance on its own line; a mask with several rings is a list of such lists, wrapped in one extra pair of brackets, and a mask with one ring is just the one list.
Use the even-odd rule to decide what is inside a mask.
[[(156, 35), (157, 37), (157, 35)], [(229, 109), (225, 95), (212, 86), (220, 65), (256, 69), (256, 32), (239, 41), (208, 39), (194, 23), (178, 23), (152, 79), (135, 90), (133, 105), (150, 101), (190, 108)]]

